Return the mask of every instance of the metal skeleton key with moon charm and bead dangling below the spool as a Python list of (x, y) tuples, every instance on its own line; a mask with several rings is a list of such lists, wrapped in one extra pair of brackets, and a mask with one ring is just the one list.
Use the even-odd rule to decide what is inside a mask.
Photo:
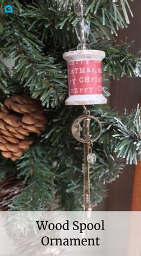
[[(91, 211), (91, 192), (90, 192), (90, 177), (89, 177), (89, 164), (95, 163), (96, 161), (96, 155), (92, 154), (92, 148), (93, 142), (97, 140), (101, 135), (101, 123), (95, 116), (91, 116), (89, 111), (86, 110), (86, 107), (84, 108), (84, 114), (83, 116), (77, 117), (76, 120), (74, 120), (71, 131), (73, 134), (73, 137), (78, 140), (79, 142), (84, 144), (84, 163), (83, 163), (83, 179), (84, 179), (84, 198), (83, 198), (83, 208), (85, 211)], [(92, 135), (90, 134), (90, 124), (91, 120), (95, 120), (98, 125), (100, 126), (100, 132), (98, 135), (94, 138), (92, 138)], [(82, 124), (83, 122), (83, 124)]]

